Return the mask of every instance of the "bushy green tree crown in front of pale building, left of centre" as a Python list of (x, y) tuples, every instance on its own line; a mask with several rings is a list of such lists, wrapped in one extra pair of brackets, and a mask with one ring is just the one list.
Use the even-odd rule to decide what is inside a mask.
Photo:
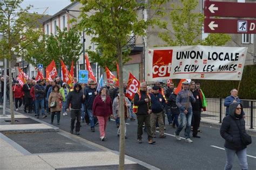
[(41, 31), (37, 41), (30, 44), (29, 47), (26, 52), (26, 60), (32, 65), (41, 63), (48, 66), (52, 60), (60, 63), (60, 59), (62, 59), (70, 67), (72, 60), (76, 63), (82, 53), (80, 35), (76, 28), (69, 31), (66, 28), (63, 31), (57, 28), (57, 34), (49, 36), (44, 35), (44, 32)]

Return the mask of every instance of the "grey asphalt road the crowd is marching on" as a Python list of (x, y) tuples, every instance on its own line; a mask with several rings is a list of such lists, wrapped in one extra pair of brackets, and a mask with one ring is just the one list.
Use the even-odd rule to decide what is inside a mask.
[[(33, 116), (33, 114), (28, 115)], [(40, 119), (50, 123), (50, 115)], [(60, 118), (60, 125), (57, 125), (55, 118), (53, 125), (69, 132), (70, 113)], [(224, 139), (220, 137), (219, 129), (200, 127), (203, 130), (199, 133), (201, 138), (191, 138), (193, 142), (189, 144), (184, 139), (177, 141), (173, 135), (175, 129), (166, 125), (167, 138), (154, 138), (156, 145), (150, 145), (147, 144), (146, 133), (143, 134), (143, 143), (137, 143), (137, 121), (127, 121), (126, 126), (128, 139), (125, 140), (125, 154), (147, 164), (160, 169), (223, 169), (225, 166)], [(100, 141), (98, 126), (93, 133), (90, 126), (85, 123), (82, 123), (79, 136), (114, 151), (119, 150), (117, 127), (113, 120), (107, 122), (107, 141)], [(256, 137), (252, 137), (252, 140), (253, 143), (247, 147), (247, 161), (250, 169), (256, 169)], [(233, 169), (239, 169), (237, 158), (235, 158)]]

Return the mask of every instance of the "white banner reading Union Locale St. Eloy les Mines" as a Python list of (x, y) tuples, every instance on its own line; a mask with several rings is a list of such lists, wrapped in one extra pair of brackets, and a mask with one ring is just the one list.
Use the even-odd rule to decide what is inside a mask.
[(247, 47), (173, 46), (147, 49), (146, 81), (241, 80)]

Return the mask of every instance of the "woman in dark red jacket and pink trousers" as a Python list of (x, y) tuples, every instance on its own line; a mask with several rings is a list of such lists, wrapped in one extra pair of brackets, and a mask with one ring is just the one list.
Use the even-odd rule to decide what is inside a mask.
[(106, 87), (100, 88), (99, 95), (93, 101), (92, 112), (99, 120), (100, 140), (105, 141), (105, 130), (107, 120), (112, 114), (112, 101), (110, 96), (107, 96)]

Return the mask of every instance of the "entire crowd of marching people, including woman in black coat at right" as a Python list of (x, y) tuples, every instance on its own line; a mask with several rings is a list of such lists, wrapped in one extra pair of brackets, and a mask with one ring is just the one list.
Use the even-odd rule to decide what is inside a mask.
[[(146, 83), (140, 83), (140, 89), (135, 94), (133, 100), (124, 98), (125, 122), (138, 121), (137, 142), (141, 144), (143, 127), (147, 133), (147, 141), (154, 144), (156, 141), (156, 129), (159, 129), (159, 138), (166, 138), (165, 135), (165, 115), (168, 124), (176, 128), (174, 133), (177, 140), (181, 140), (179, 134), (185, 127), (185, 141), (193, 138), (200, 138), (198, 132), (200, 126), (201, 113), (206, 111), (204, 94), (200, 89), (199, 81), (183, 81), (182, 90), (177, 91), (173, 83), (170, 83), (164, 90), (159, 82), (153, 87)], [(3, 77), (1, 78), (1, 103), (3, 96)], [(7, 84), (9, 86), (9, 84)], [(23, 87), (19, 81), (13, 81), (12, 91), (14, 92), (16, 111), (24, 110), (24, 113), (35, 113), (39, 118), (46, 118), (51, 114), (51, 124), (57, 117), (57, 124), (60, 124), (60, 114), (63, 116), (71, 112), (70, 133), (79, 135), (81, 121), (90, 125), (91, 132), (95, 132), (95, 126), (99, 125), (100, 140), (106, 141), (106, 125), (110, 118), (116, 120), (118, 127), (117, 135), (120, 135), (120, 112), (119, 112), (119, 87), (114, 82), (107, 84), (96, 90), (97, 83), (90, 80), (88, 84), (78, 84), (74, 78), (72, 87), (63, 83), (60, 77), (54, 81), (26, 80)], [(124, 92), (126, 86), (124, 83)], [(0, 104), (1, 104), (0, 103)], [(22, 104), (24, 107), (22, 108)], [(248, 169), (246, 159), (246, 146), (242, 138), (245, 132), (245, 113), (242, 110), (241, 100), (238, 98), (238, 91), (231, 90), (231, 95), (225, 99), (226, 117), (223, 119), (220, 134), (225, 139), (226, 166), (231, 169), (234, 155), (237, 154), (240, 166)], [(180, 121), (178, 121), (180, 117)], [(75, 125), (76, 123), (76, 125)], [(126, 127), (125, 127), (125, 138)]]

